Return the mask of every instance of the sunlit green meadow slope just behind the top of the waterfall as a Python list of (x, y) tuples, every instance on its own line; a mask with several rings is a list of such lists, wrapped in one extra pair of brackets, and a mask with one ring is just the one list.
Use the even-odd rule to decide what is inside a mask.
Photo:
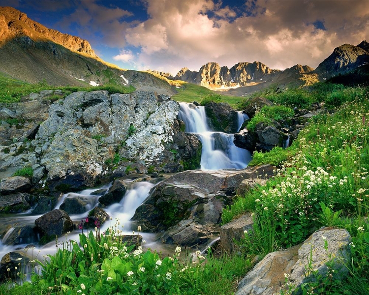
[[(193, 102), (197, 101), (200, 103), (208, 95), (214, 94), (214, 91), (207, 89), (206, 87), (186, 83), (182, 81), (177, 81), (182, 84), (182, 87), (177, 89), (179, 92), (173, 95), (171, 98), (178, 102)], [(217, 94), (215, 94), (217, 95)], [(219, 94), (220, 100), (218, 102), (227, 102), (232, 107), (236, 108), (238, 104), (243, 101), (244, 97), (238, 96), (227, 96)]]

